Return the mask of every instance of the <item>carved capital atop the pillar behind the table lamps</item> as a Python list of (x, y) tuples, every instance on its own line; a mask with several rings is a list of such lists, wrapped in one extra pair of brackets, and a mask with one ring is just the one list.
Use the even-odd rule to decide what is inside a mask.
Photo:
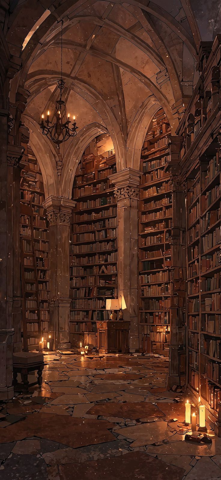
[(121, 172), (110, 175), (110, 183), (115, 185), (114, 196), (117, 201), (124, 198), (138, 199), (141, 175), (140, 171), (133, 168), (125, 168)]

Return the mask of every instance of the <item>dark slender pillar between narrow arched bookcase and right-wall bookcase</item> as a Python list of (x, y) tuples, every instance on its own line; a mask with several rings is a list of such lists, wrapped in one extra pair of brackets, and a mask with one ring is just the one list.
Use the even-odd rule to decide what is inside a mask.
[(186, 380), (186, 241), (185, 187), (180, 180), (182, 136), (167, 137), (170, 152), (166, 171), (172, 182), (173, 223), (171, 228), (171, 306), (169, 373), (167, 387), (184, 385)]

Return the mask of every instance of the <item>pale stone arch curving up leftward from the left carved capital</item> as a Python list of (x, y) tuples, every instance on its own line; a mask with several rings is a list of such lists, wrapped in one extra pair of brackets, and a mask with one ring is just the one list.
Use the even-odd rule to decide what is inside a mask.
[(27, 115), (22, 116), (24, 124), (30, 132), (29, 144), (41, 168), (45, 198), (49, 195), (59, 195), (59, 178), (56, 161), (59, 160), (53, 145), (43, 136), (39, 125)]

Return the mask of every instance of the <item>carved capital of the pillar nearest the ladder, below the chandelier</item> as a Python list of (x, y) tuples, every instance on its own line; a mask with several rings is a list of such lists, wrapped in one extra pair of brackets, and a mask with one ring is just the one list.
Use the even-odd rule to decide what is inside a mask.
[(53, 195), (46, 198), (43, 203), (50, 225), (70, 225), (70, 218), (75, 205), (76, 202), (74, 200)]

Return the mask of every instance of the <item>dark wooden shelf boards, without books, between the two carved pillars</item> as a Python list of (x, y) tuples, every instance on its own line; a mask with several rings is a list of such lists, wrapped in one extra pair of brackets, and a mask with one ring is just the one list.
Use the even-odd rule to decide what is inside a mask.
[[(96, 269), (96, 267), (99, 267), (101, 268), (102, 265), (117, 265), (117, 259), (116, 260), (112, 260), (110, 262), (98, 262), (98, 258), (99, 258), (99, 255), (103, 258), (108, 258), (107, 255), (111, 255), (111, 254), (117, 254), (117, 236), (115, 235), (114, 237), (110, 237), (110, 230), (112, 231), (116, 231), (117, 233), (117, 203), (116, 203), (116, 200), (115, 200), (115, 197), (114, 197), (114, 189), (113, 188), (109, 188), (107, 190), (103, 190), (103, 191), (99, 191), (99, 192), (89, 192), (89, 193), (86, 193), (86, 194), (82, 194), (80, 196), (75, 196), (75, 192), (77, 192), (76, 188), (79, 189), (78, 192), (80, 191), (81, 188), (84, 188), (85, 186), (89, 186), (89, 185), (99, 185), (101, 183), (104, 183), (106, 185), (108, 185), (108, 182), (109, 182), (109, 179), (108, 179), (108, 176), (110, 175), (110, 171), (113, 170), (113, 171), (116, 171), (116, 167), (115, 167), (115, 164), (114, 165), (111, 165), (109, 166), (108, 168), (98, 168), (98, 171), (105, 171), (106, 170), (106, 177), (104, 178), (100, 178), (100, 179), (94, 179), (93, 177), (91, 178), (91, 180), (88, 179), (88, 174), (89, 173), (92, 173), (92, 172), (87, 172), (85, 173), (86, 171), (86, 167), (88, 168), (88, 165), (90, 165), (90, 162), (87, 161), (87, 156), (83, 156), (80, 160), (80, 163), (78, 165), (78, 168), (81, 168), (82, 169), (82, 173), (78, 174), (76, 172), (76, 176), (75, 176), (75, 179), (74, 179), (74, 184), (73, 184), (73, 191), (72, 191), (72, 198), (77, 202), (77, 205), (76, 205), (76, 209), (75, 211), (73, 211), (73, 214), (72, 214), (72, 221), (71, 221), (71, 246), (70, 246), (70, 273), (73, 274), (73, 272), (75, 272), (75, 275), (70, 275), (70, 295), (72, 296), (72, 304), (71, 304), (71, 307), (70, 307), (70, 311), (72, 312), (71, 313), (71, 319), (70, 319), (70, 324), (82, 324), (82, 323), (92, 323), (94, 322), (95, 323), (95, 318), (94, 318), (94, 314), (95, 314), (95, 317), (96, 319), (99, 320), (99, 317), (98, 317), (98, 314), (97, 312), (106, 312), (106, 308), (103, 307), (103, 308), (98, 308), (97, 305), (97, 301), (100, 302), (100, 300), (104, 299), (104, 301), (107, 299), (107, 298), (110, 298), (111, 297), (111, 294), (108, 293), (107, 295), (104, 295), (102, 293), (100, 293), (100, 291), (102, 292), (105, 292), (105, 290), (108, 292), (108, 291), (112, 291), (114, 293), (114, 297), (117, 296), (117, 272), (110, 272), (110, 273), (93, 273), (93, 270)], [(84, 168), (85, 166), (85, 168)], [(83, 173), (84, 172), (84, 173)], [(84, 182), (84, 179), (86, 179), (87, 181)], [(82, 183), (79, 183), (79, 180), (82, 181)], [(78, 184), (77, 184), (78, 183)], [(98, 205), (98, 206), (87, 206), (87, 208), (81, 208), (80, 207), (80, 204), (83, 205), (84, 203), (87, 205), (87, 200), (88, 199), (89, 201), (90, 200), (95, 200), (97, 198), (100, 198), (100, 197), (111, 197), (112, 199), (112, 203), (109, 203), (109, 204), (104, 204), (104, 205)], [(110, 208), (113, 208), (112, 212), (116, 212), (115, 215), (107, 215), (107, 216), (99, 216), (98, 218), (95, 218), (93, 216), (93, 218), (88, 218), (88, 219), (81, 219), (82, 216), (84, 215), (84, 213), (88, 213), (88, 212), (98, 212), (98, 213), (101, 213), (101, 212), (107, 212), (107, 213), (110, 213)], [(77, 220), (77, 218), (79, 218), (79, 220)], [(116, 219), (115, 223), (116, 225), (110, 225), (110, 221), (109, 220), (112, 220), (112, 219)], [(95, 226), (100, 225), (102, 226), (102, 222), (105, 222), (105, 225), (103, 227), (100, 227), (100, 228), (96, 228)], [(86, 230), (85, 227), (84, 230), (81, 230), (79, 231), (78, 230), (78, 225), (79, 224), (88, 224), (88, 225), (91, 225), (91, 228)], [(97, 231), (101, 231), (101, 230), (105, 230), (106, 232), (106, 238), (96, 238), (97, 237)], [(94, 235), (93, 235), (94, 234)], [(91, 239), (88, 239), (87, 237), (91, 235), (92, 238)], [(77, 237), (78, 236), (78, 237)], [(93, 238), (93, 236), (95, 238)], [(74, 241), (74, 238), (76, 239)], [(82, 240), (77, 240), (81, 238)], [(111, 245), (110, 242), (113, 242), (113, 244)], [(88, 252), (73, 252), (74, 248), (75, 248), (75, 245), (76, 246), (80, 246), (80, 245), (93, 245), (96, 250), (94, 251), (88, 251)], [(107, 248), (108, 245), (110, 245), (111, 248), (110, 250)], [(97, 250), (98, 247), (101, 247), (102, 246), (102, 250)], [(84, 259), (86, 257), (86, 260), (88, 260), (89, 258), (92, 260), (92, 262), (90, 263), (83, 263), (83, 264), (72, 264), (72, 261), (73, 261), (73, 258), (76, 257), (78, 258), (79, 260), (80, 259)], [(88, 258), (87, 258), (88, 257)], [(92, 272), (91, 273), (86, 273), (84, 274), (84, 269), (91, 269)], [(81, 285), (81, 286), (73, 286), (72, 285), (72, 281), (73, 279), (75, 278), (88, 278), (88, 277), (93, 277), (94, 278), (94, 284), (93, 285)], [(111, 283), (111, 284), (108, 284), (108, 285), (98, 285), (97, 282), (98, 282), (98, 278), (114, 278), (115, 279), (115, 283)], [(89, 297), (86, 297), (86, 296), (82, 296), (82, 292), (84, 290), (81, 290), (81, 289), (84, 289), (84, 288), (92, 288), (92, 289), (95, 289), (94, 292), (93, 292), (93, 295), (92, 296), (89, 296)], [(73, 292), (74, 290), (77, 292), (77, 297), (73, 297)], [(85, 293), (88, 293), (88, 292), (85, 292)], [(79, 296), (81, 295), (81, 296)], [(83, 307), (82, 306), (82, 301), (85, 301), (85, 306)], [(89, 302), (90, 301), (93, 301), (95, 303), (95, 305), (93, 305), (92, 307), (89, 305)], [(80, 308), (73, 308), (74, 305), (77, 305), (79, 306), (80, 305)], [(75, 315), (75, 312), (79, 312), (78, 314), (78, 319), (74, 318), (74, 315)], [(89, 316), (89, 312), (94, 312), (92, 314), (93, 318), (89, 319), (89, 318), (80, 318), (81, 317), (81, 313), (80, 312), (88, 312), (87, 314), (87, 317)], [(105, 319), (104, 319), (105, 320)], [(78, 330), (78, 329), (77, 329)], [(85, 329), (84, 329), (85, 330)], [(87, 329), (86, 329), (87, 330)], [(93, 332), (90, 331), (90, 329), (88, 329), (89, 331), (85, 331), (85, 334), (93, 334)], [(74, 341), (74, 335), (77, 334), (77, 335), (84, 335), (84, 332), (82, 331), (75, 331), (74, 333), (71, 333), (70, 335), (70, 339), (71, 341), (73, 340)], [(95, 335), (95, 334), (94, 334)], [(74, 345), (73, 345), (74, 346)]]

